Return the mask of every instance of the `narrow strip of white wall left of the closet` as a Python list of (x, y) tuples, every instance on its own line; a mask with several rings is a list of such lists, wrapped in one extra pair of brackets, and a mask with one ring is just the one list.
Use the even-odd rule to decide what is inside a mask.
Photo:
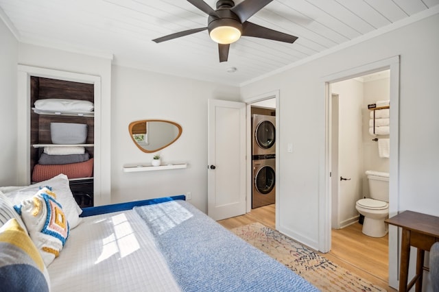
[(0, 20), (0, 186), (17, 184), (16, 63), (19, 42)]

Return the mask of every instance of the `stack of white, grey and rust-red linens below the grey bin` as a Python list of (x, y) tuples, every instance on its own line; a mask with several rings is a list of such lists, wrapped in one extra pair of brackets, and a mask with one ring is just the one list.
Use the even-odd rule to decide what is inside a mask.
[(45, 147), (34, 166), (32, 181), (41, 182), (64, 173), (69, 179), (93, 176), (93, 158), (84, 147)]

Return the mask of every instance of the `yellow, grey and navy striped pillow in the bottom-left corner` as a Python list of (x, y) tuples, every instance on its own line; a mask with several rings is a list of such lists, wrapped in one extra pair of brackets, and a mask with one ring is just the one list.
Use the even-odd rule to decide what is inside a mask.
[(1, 291), (49, 291), (49, 273), (34, 243), (13, 218), (0, 228)]

